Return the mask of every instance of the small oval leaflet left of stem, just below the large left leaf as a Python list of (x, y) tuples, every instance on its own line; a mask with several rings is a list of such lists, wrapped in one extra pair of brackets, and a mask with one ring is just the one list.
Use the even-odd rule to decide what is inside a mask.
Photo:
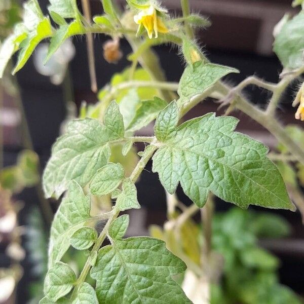
[(125, 176), (121, 164), (108, 163), (99, 169), (90, 183), (90, 192), (93, 195), (103, 196), (113, 192)]

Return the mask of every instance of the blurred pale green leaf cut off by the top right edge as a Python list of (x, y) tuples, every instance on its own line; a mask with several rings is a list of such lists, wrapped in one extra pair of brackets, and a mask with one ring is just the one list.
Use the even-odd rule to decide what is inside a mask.
[(304, 49), (304, 12), (287, 21), (277, 34), (274, 52), (288, 69), (301, 67)]

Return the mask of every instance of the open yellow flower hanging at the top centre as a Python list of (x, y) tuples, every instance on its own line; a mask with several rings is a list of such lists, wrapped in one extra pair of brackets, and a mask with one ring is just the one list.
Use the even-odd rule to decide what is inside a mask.
[(157, 10), (153, 5), (147, 9), (141, 10), (137, 15), (135, 15), (134, 21), (136, 24), (139, 24), (139, 26), (144, 26), (150, 39), (153, 37), (153, 31), (155, 32), (156, 38), (158, 37), (159, 32), (168, 32), (168, 28), (161, 18), (157, 16)]

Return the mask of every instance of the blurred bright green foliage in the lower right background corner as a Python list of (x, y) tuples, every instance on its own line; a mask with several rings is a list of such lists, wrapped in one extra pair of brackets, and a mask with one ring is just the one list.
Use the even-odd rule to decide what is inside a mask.
[(260, 236), (285, 237), (286, 231), (281, 236), (276, 232), (281, 225), (288, 227), (278, 215), (237, 208), (215, 215), (212, 247), (223, 255), (224, 271), (220, 285), (212, 288), (212, 304), (300, 303), (296, 294), (279, 284), (278, 259), (257, 243)]

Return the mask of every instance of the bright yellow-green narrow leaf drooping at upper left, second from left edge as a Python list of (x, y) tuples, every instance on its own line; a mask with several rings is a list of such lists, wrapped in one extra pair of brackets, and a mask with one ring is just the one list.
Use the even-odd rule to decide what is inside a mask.
[(18, 61), (13, 70), (13, 74), (19, 71), (29, 59), (36, 46), (44, 39), (52, 36), (52, 26), (49, 18), (42, 19), (37, 25), (36, 30), (30, 32), (20, 45), (21, 50), (18, 54)]

